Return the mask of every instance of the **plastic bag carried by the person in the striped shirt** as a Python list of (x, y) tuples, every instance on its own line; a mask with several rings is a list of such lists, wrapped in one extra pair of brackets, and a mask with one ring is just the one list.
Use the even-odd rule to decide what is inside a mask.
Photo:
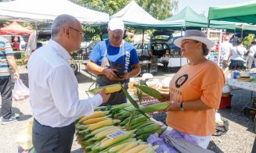
[(23, 84), (22, 80), (15, 80), (15, 84), (13, 87), (13, 101), (23, 101), (29, 98), (29, 90)]

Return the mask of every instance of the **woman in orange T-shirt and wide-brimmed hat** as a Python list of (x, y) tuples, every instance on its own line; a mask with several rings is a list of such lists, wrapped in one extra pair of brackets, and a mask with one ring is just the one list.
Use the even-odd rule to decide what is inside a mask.
[(182, 137), (191, 144), (207, 148), (215, 133), (215, 110), (221, 101), (225, 77), (215, 62), (205, 58), (214, 43), (200, 30), (186, 30), (174, 44), (181, 48), (189, 63), (170, 81), (171, 105), (166, 109), (166, 123), (171, 137)]

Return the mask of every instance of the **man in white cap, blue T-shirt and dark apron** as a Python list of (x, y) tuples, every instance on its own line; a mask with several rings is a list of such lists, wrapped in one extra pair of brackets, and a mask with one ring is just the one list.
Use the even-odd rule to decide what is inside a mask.
[[(98, 75), (97, 84), (106, 86), (124, 83), (128, 87), (130, 77), (140, 73), (139, 58), (134, 46), (123, 40), (124, 23), (114, 18), (108, 23), (106, 41), (100, 41), (89, 55), (88, 70)], [(123, 91), (111, 94), (104, 105), (117, 105), (126, 102)]]

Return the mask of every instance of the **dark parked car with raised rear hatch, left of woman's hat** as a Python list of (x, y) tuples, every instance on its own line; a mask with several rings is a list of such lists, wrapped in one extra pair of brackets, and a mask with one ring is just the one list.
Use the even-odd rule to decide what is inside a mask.
[(165, 53), (171, 54), (171, 46), (169, 41), (171, 40), (173, 31), (163, 30), (154, 31), (150, 37), (150, 44), (152, 55), (157, 55), (158, 58), (163, 57)]

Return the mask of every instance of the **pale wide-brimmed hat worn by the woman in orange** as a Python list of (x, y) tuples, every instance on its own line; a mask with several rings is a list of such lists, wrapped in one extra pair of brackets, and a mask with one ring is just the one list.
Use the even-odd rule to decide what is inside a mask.
[(204, 43), (208, 49), (211, 49), (212, 47), (215, 46), (215, 43), (213, 41), (210, 41), (209, 39), (207, 39), (206, 35), (200, 30), (186, 30), (184, 37), (179, 37), (179, 38), (175, 39), (174, 44), (180, 48), (182, 45), (182, 41), (184, 39), (200, 41), (200, 42)]

